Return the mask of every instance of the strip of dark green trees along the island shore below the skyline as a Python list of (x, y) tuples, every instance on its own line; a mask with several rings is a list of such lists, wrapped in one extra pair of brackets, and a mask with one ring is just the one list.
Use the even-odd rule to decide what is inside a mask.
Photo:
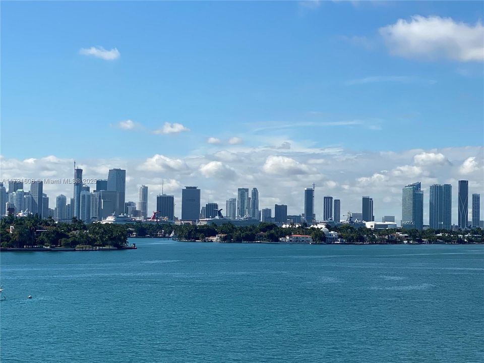
[[(10, 233), (10, 226), (13, 226)], [(472, 232), (427, 229), (425, 231), (390, 229), (371, 230), (351, 225), (329, 227), (338, 233), (339, 238), (349, 244), (398, 244), (403, 241), (413, 243), (484, 243), (484, 231), (480, 228)], [(129, 223), (129, 224), (85, 224), (73, 218), (72, 223), (55, 223), (52, 218), (40, 219), (38, 216), (14, 218), (9, 216), (0, 221), (0, 240), (2, 247), (61, 246), (92, 247), (113, 246), (116, 248), (128, 244), (128, 236), (136, 233), (139, 237), (170, 235), (171, 232), (180, 240), (206, 240), (218, 235), (224, 242), (276, 242), (279, 238), (292, 234), (310, 235), (314, 243), (325, 243), (327, 235), (317, 228), (306, 224), (288, 228), (272, 223), (260, 223), (257, 226), (235, 227), (231, 223), (221, 226), (212, 225), (174, 225), (166, 223)], [(405, 233), (403, 237), (397, 232)]]

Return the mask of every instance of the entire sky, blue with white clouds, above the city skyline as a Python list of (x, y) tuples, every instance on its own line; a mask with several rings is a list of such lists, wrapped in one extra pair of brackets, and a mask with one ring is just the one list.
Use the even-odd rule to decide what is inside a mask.
[[(482, 2), (2, 2), (0, 178), (127, 169), (127, 201), (304, 188), (401, 218), (422, 182), (484, 191)], [(91, 185), (92, 187), (92, 185)], [(27, 189), (27, 188), (26, 188)], [(72, 197), (72, 185), (48, 185)], [(470, 208), (470, 203), (469, 203)], [(481, 208), (482, 210), (482, 208)], [(481, 212), (481, 216), (483, 213)], [(469, 215), (470, 218), (470, 215)], [(481, 219), (483, 219), (481, 217)]]

